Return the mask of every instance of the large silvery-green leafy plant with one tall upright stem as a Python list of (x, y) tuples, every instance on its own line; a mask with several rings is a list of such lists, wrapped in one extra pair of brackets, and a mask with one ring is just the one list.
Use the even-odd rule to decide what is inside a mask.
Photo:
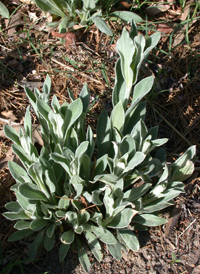
[(34, 146), (30, 107), (24, 131), (4, 127), (23, 164), (9, 162), (16, 180), (11, 188), (16, 201), (6, 204), (4, 216), (16, 220), (17, 231), (10, 241), (28, 236), (33, 240), (31, 259), (41, 244), (49, 251), (59, 238), (60, 261), (72, 245), (89, 271), (86, 245), (98, 261), (102, 260), (102, 243), (119, 260), (122, 250), (139, 249), (134, 230), (166, 223), (157, 212), (173, 205), (173, 199), (184, 191), (182, 181), (193, 172), (195, 147), (167, 164), (160, 148), (167, 139), (158, 139), (158, 127), (147, 129), (144, 123), (146, 103), (142, 99), (154, 79), (150, 76), (136, 82), (142, 61), (159, 39), (159, 33), (146, 39), (138, 35), (134, 23), (130, 33), (123, 29), (117, 42), (120, 57), (115, 67), (113, 110), (110, 116), (102, 111), (96, 139), (85, 125), (90, 104), (87, 84), (78, 99), (69, 92), (72, 102), (62, 105), (55, 95), (49, 102), (49, 76), (42, 92), (25, 88), (41, 124), (43, 146), (41, 151)]

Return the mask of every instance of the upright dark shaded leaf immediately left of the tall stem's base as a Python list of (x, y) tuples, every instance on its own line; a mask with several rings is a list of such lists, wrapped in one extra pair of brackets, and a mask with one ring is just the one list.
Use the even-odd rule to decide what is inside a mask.
[(101, 112), (97, 123), (98, 157), (105, 155), (111, 145), (111, 123), (106, 110)]

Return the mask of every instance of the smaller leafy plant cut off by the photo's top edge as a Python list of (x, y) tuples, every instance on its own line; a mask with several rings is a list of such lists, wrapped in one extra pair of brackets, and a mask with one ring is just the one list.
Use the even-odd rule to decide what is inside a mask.
[(142, 18), (130, 11), (115, 11), (110, 13), (118, 0), (33, 0), (44, 12), (50, 12), (58, 16), (60, 21), (51, 23), (51, 26), (59, 25), (59, 32), (66, 32), (66, 28), (72, 28), (76, 24), (82, 26), (94, 23), (98, 29), (108, 35), (113, 35), (111, 28), (106, 24), (105, 18), (112, 18), (136, 23), (143, 22)]

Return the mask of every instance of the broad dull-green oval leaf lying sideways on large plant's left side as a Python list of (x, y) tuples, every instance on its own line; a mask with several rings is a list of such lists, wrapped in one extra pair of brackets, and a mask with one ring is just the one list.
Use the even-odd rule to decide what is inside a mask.
[(45, 194), (34, 184), (24, 183), (20, 185), (19, 193), (30, 200), (47, 201)]

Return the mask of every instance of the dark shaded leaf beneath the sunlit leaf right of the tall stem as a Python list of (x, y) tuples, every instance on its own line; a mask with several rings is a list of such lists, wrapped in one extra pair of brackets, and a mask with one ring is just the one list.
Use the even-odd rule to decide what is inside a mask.
[(125, 125), (123, 134), (131, 134), (134, 126), (142, 119), (144, 120), (146, 114), (146, 102), (139, 103), (128, 115), (125, 116)]

